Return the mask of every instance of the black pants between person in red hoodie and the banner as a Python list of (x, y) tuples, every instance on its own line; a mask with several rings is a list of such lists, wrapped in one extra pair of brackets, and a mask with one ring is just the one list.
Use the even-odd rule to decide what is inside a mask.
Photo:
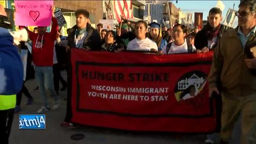
[(63, 77), (60, 74), (60, 65), (58, 63), (55, 63), (53, 65), (53, 83), (54, 83), (54, 90), (57, 94), (59, 94), (59, 81), (62, 85), (66, 85), (66, 81), (63, 79)]

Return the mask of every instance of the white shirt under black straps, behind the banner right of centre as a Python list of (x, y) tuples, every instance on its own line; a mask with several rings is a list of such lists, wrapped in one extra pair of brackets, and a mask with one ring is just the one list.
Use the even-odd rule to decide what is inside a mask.
[[(167, 54), (166, 53), (166, 46), (165, 45), (163, 47), (163, 54)], [(194, 45), (192, 45), (192, 52), (195, 52), (196, 51), (196, 47)], [(187, 45), (187, 42), (185, 41), (182, 45), (175, 45), (174, 42), (172, 42), (172, 45), (170, 47), (170, 50), (168, 52), (168, 54), (172, 54), (172, 53), (187, 53), (188, 52), (188, 45)]]

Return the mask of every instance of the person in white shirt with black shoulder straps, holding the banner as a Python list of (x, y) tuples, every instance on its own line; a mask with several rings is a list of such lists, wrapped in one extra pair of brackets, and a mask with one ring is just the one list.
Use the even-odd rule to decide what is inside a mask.
[(169, 43), (163, 47), (158, 54), (172, 54), (172, 53), (192, 53), (196, 52), (196, 47), (186, 42), (187, 27), (185, 25), (177, 24), (173, 26), (172, 37), (174, 42)]

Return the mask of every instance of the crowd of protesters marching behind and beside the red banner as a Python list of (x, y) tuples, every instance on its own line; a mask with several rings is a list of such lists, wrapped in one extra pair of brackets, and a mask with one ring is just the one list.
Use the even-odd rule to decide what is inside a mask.
[[(122, 24), (120, 23), (120, 25), (116, 26), (114, 29), (110, 29), (109, 26), (107, 29), (103, 29), (101, 23), (99, 23), (97, 29), (95, 29), (90, 24), (90, 13), (87, 10), (79, 9), (75, 12), (76, 25), (67, 30), (67, 37), (60, 35), (60, 29), (57, 19), (54, 17), (54, 11), (55, 7), (53, 6), (53, 24), (50, 33), (46, 32), (46, 27), (37, 27), (34, 31), (30, 31), (26, 27), (20, 26), (20, 29), (27, 29), (31, 41), (32, 53), (28, 54), (31, 55), (30, 59), (33, 60), (34, 68), (31, 67), (30, 69), (34, 69), (39, 94), (43, 102), (43, 106), (37, 111), (38, 114), (43, 114), (50, 110), (46, 90), (49, 90), (54, 98), (51, 109), (55, 110), (59, 108), (60, 81), (63, 87), (67, 85), (66, 117), (61, 125), (69, 128), (76, 127), (76, 125), (71, 122), (71, 49), (116, 53), (138, 51), (143, 53), (155, 53), (157, 55), (206, 53), (214, 51), (213, 64), (209, 74), (209, 95), (211, 96), (213, 92), (217, 94), (220, 94), (220, 91), (222, 92), (222, 99), (219, 97), (219, 110), (222, 111), (219, 120), (221, 119), (222, 127), (218, 130), (221, 134), (221, 143), (228, 143), (234, 124), (238, 119), (238, 114), (241, 111), (243, 111), (245, 115), (242, 116), (242, 142), (255, 142), (256, 118), (255, 109), (252, 109), (255, 108), (256, 81), (255, 76), (247, 69), (255, 68), (255, 61), (245, 59), (242, 55), (246, 50), (245, 47), (247, 43), (250, 44), (249, 37), (255, 35), (255, 2), (241, 2), (239, 11), (236, 13), (239, 20), (239, 26), (236, 29), (221, 25), (222, 12), (217, 7), (213, 7), (209, 11), (207, 24), (202, 29), (195, 27), (193, 30), (189, 30), (187, 26), (179, 23), (176, 23), (172, 28), (168, 28), (157, 22), (148, 24), (141, 20), (133, 23), (125, 19), (123, 19)], [(238, 43), (239, 41), (241, 41), (242, 44)], [(239, 50), (234, 49), (237, 45), (239, 45)], [(27, 50), (28, 47), (25, 43), (21, 43), (20, 49)], [(27, 63), (31, 63), (31, 60), (30, 62), (28, 60)], [(27, 65), (27, 63), (23, 63), (23, 65)], [(26, 71), (25, 69), (28, 69), (28, 67), (24, 68), (25, 73), (30, 71)], [(61, 69), (67, 70), (67, 83), (61, 77)], [(242, 75), (237, 73), (237, 71), (242, 71)], [(15, 112), (21, 110), (20, 101), (22, 93), (28, 98), (26, 105), (33, 103), (34, 98), (24, 85), (29, 75), (30, 74), (27, 74), (27, 78), (26, 76), (23, 78), (22, 90), (17, 94)], [(223, 75), (226, 77), (223, 77)], [(232, 80), (233, 77), (237, 78), (242, 76), (244, 77), (242, 80)], [(246, 91), (239, 88), (239, 82), (243, 83), (242, 87)], [(62, 90), (65, 90), (63, 87)], [(241, 94), (242, 97), (237, 93)], [(236, 95), (236, 97), (230, 98), (232, 95)], [(214, 142), (211, 139), (211, 135), (207, 135), (206, 142)]]

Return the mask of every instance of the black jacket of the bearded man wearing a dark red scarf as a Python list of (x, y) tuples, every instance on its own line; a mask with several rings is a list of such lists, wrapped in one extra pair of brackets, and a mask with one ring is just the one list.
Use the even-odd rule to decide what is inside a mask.
[[(221, 25), (220, 33), (218, 34), (218, 39), (223, 36), (226, 30), (229, 29), (227, 26)], [(203, 28), (202, 30), (198, 31), (195, 37), (195, 47), (197, 50), (202, 50), (204, 47), (208, 46), (208, 41), (206, 37), (206, 30)]]

